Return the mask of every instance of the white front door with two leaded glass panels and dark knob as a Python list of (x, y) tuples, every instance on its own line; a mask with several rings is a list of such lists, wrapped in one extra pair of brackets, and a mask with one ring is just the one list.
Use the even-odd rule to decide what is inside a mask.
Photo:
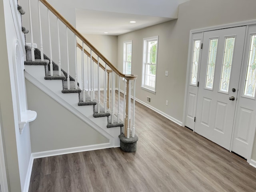
[(194, 131), (230, 150), (246, 27), (204, 32)]

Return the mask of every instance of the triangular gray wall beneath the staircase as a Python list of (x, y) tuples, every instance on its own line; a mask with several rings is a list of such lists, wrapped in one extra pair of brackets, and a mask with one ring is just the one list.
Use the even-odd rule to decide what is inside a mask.
[(26, 80), (28, 107), (37, 112), (30, 122), (32, 152), (109, 142), (104, 136)]

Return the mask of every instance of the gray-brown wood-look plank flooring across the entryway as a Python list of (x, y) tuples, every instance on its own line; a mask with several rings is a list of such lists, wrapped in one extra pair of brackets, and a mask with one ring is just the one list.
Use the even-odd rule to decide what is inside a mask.
[(136, 102), (137, 151), (34, 160), (29, 192), (256, 192), (256, 168)]

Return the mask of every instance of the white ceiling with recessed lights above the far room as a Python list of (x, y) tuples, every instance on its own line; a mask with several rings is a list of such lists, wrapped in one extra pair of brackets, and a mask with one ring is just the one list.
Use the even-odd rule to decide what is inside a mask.
[(178, 5), (188, 0), (99, 1), (81, 2), (81, 8), (76, 8), (76, 29), (80, 33), (118, 36), (174, 20), (178, 16)]

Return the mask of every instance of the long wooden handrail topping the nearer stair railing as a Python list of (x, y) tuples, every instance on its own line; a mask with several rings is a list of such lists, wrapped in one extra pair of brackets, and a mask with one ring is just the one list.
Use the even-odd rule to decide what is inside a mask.
[[(103, 62), (105, 62), (116, 74), (118, 74), (120, 77), (125, 78), (125, 74), (121, 73), (113, 64), (110, 63), (110, 61), (107, 60), (74, 26), (72, 26), (54, 7), (47, 2), (46, 0), (40, 0), (44, 6), (46, 6), (59, 20), (61, 20), (82, 42), (84, 42), (97, 56), (99, 56)], [(136, 79), (137, 76), (134, 75), (132, 79)]]

